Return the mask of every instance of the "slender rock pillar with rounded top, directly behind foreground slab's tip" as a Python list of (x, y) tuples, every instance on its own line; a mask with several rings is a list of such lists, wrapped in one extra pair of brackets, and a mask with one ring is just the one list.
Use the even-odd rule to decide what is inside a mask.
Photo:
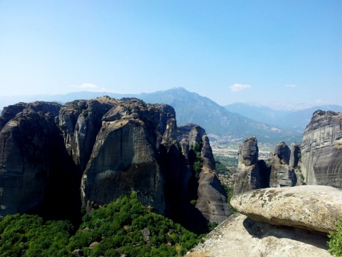
[(257, 138), (249, 137), (237, 151), (239, 164), (235, 178), (234, 194), (261, 187), (261, 175), (258, 164), (259, 148)]

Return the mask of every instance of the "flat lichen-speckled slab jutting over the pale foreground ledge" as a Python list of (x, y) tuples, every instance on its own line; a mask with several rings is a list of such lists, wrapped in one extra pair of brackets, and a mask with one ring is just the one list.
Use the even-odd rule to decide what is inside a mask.
[(233, 196), (230, 203), (256, 221), (311, 231), (336, 231), (342, 190), (331, 186), (264, 188)]

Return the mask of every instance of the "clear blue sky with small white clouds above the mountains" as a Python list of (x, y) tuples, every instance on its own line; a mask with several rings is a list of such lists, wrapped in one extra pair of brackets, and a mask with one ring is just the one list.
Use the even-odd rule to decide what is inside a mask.
[(342, 1), (0, 0), (0, 96), (173, 87), (342, 105)]

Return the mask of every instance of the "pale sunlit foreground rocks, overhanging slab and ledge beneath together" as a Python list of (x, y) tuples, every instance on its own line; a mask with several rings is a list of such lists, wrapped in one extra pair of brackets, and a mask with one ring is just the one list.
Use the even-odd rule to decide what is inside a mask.
[(327, 232), (336, 231), (341, 198), (342, 190), (329, 186), (240, 193), (230, 201), (240, 213), (229, 216), (186, 256), (331, 256)]

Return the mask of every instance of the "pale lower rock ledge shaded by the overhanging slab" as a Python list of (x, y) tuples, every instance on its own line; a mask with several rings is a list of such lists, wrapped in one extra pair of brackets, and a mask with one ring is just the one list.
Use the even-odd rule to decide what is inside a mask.
[(300, 228), (254, 221), (240, 213), (219, 224), (187, 257), (328, 257), (328, 237)]

